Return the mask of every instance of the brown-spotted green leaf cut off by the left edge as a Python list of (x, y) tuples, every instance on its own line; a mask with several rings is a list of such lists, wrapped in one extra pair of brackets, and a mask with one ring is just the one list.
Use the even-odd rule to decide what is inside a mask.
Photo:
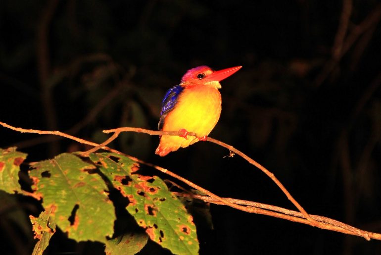
[(0, 189), (14, 194), (21, 193), (21, 186), (18, 183), (18, 172), (20, 164), (25, 160), (27, 154), (16, 152), (16, 147), (6, 150), (0, 149)]

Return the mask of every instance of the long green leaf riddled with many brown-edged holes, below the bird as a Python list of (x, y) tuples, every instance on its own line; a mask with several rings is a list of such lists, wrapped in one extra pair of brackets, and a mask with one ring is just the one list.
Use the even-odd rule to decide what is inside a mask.
[(90, 158), (129, 199), (127, 210), (152, 241), (174, 254), (198, 254), (192, 216), (159, 177), (138, 174), (138, 165), (123, 155), (96, 153)]

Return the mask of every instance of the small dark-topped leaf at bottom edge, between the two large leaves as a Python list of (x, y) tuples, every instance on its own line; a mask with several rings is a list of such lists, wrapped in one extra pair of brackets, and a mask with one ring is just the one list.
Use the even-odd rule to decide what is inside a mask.
[(106, 255), (134, 255), (147, 244), (148, 236), (144, 232), (129, 233), (106, 242)]

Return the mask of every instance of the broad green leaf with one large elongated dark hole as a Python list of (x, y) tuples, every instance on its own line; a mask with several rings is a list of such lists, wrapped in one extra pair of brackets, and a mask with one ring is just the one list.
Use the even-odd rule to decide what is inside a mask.
[(115, 212), (95, 166), (63, 153), (33, 168), (32, 188), (43, 198), (45, 208), (55, 207), (58, 227), (77, 241), (106, 242), (105, 237), (113, 233)]

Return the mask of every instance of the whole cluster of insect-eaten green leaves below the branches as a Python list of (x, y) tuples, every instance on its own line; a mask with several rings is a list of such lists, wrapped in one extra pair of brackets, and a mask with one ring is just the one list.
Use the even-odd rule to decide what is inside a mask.
[[(15, 148), (0, 151), (1, 173), (9, 180), (19, 174), (20, 157)], [(21, 161), (23, 161), (23, 159)], [(31, 164), (32, 193), (45, 208), (39, 217), (30, 215), (38, 242), (33, 254), (47, 249), (56, 226), (78, 242), (106, 244), (107, 254), (135, 254), (145, 246), (147, 237), (173, 254), (198, 254), (198, 240), (192, 216), (184, 204), (157, 176), (138, 174), (139, 166), (130, 158), (115, 153), (90, 154), (92, 163), (77, 155), (62, 153), (54, 159)], [(17, 185), (13, 188), (23, 193)], [(128, 198), (127, 211), (142, 231), (114, 234), (115, 208), (108, 194), (116, 189)], [(0, 190), (9, 190), (2, 182)], [(114, 202), (115, 203), (115, 202)], [(114, 239), (108, 241), (108, 238)]]

